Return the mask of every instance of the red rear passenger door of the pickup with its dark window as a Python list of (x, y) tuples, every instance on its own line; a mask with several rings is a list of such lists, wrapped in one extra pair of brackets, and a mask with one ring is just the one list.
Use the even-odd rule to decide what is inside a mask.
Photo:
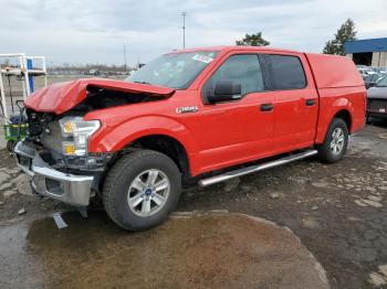
[(274, 96), (274, 153), (314, 143), (318, 95), (303, 54), (266, 54), (269, 86)]

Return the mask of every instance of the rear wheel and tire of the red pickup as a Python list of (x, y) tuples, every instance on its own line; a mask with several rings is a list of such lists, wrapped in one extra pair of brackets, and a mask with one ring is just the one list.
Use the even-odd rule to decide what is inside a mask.
[[(339, 141), (342, 140), (342, 142)], [(339, 161), (348, 146), (348, 128), (341, 118), (334, 118), (328, 127), (323, 144), (317, 146), (321, 161), (334, 163)]]

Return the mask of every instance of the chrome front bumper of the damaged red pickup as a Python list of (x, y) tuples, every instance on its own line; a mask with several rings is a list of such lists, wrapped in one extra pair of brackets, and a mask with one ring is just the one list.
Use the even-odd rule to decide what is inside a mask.
[(19, 141), (14, 148), (18, 167), (32, 176), (33, 190), (44, 196), (75, 206), (87, 206), (92, 196), (93, 175), (74, 175), (51, 168), (38, 151)]

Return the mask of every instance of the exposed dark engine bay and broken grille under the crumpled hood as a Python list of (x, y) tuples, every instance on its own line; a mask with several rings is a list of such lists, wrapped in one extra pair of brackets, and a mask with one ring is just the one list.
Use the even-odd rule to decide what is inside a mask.
[[(33, 143), (42, 152), (44, 161), (55, 169), (103, 171), (114, 153), (67, 156), (63, 150), (63, 143), (74, 141), (74, 137), (63, 132), (61, 121), (63, 119), (81, 119), (79, 121), (82, 121), (82, 117), (93, 110), (161, 99), (163, 97), (156, 97), (149, 93), (127, 93), (90, 85), (86, 98), (62, 115), (27, 108), (25, 140)], [(87, 138), (83, 141), (87, 147)]]

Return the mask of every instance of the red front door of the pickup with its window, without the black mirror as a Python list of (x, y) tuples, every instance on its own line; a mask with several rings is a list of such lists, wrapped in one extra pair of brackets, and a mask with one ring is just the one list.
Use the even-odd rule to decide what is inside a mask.
[[(206, 92), (224, 79), (241, 84), (241, 98), (216, 104), (207, 101)], [(229, 56), (206, 81), (201, 94), (203, 104), (197, 117), (196, 139), (206, 171), (271, 154), (274, 97), (265, 92), (257, 54)]]

